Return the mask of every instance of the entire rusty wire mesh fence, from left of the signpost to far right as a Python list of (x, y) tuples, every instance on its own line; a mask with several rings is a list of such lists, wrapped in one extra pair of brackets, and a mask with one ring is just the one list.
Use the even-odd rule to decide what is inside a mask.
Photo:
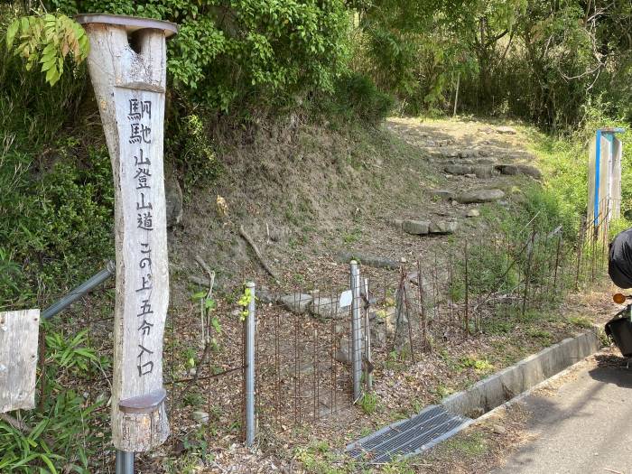
[[(331, 423), (340, 412), (353, 410), (393, 358), (413, 365), (438, 342), (458, 345), (491, 327), (511, 328), (534, 312), (551, 311), (566, 293), (607, 269), (608, 221), (604, 212), (573, 235), (536, 215), (522, 228), (490, 233), (484, 240), (434, 246), (396, 270), (376, 274), (360, 261), (359, 274), (349, 266), (309, 284), (257, 285), (259, 439), (292, 426)], [(241, 289), (235, 293), (243, 296)], [(170, 311), (165, 330), (172, 431), (167, 448), (173, 453), (185, 450), (189, 439), (210, 440), (218, 432), (243, 439), (246, 433), (243, 308), (235, 309), (237, 298), (214, 298), (208, 288), (193, 296), (186, 311)], [(88, 318), (64, 323), (63, 330), (83, 330), (89, 346), (109, 354), (112, 317), (94, 304), (85, 299)], [(235, 318), (244, 322), (223, 322)], [(46, 337), (42, 330), (42, 340)], [(51, 341), (40, 347), (42, 408), (51, 396), (45, 365), (59, 349), (51, 349)], [(108, 371), (104, 365), (82, 381), (88, 386), (85, 404), (107, 401)], [(106, 414), (107, 404), (99, 410)], [(103, 420), (96, 472), (111, 471), (114, 458)]]

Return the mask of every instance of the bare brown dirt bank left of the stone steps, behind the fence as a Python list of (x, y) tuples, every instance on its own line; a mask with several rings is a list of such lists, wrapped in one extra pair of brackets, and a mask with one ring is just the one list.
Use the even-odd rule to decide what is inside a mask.
[[(479, 228), (477, 219), (466, 218), (476, 204), (438, 199), (433, 190), (499, 188), (508, 197), (531, 179), (445, 172), (451, 164), (491, 170), (497, 163), (533, 162), (521, 131), (498, 130), (478, 121), (392, 118), (369, 132), (304, 125), (284, 140), (261, 135), (251, 144), (226, 145), (218, 184), (185, 193), (181, 227), (170, 235), (172, 273), (200, 274), (194, 263), (200, 255), (218, 271), (220, 287), (246, 278), (269, 283), (238, 235), (241, 225), (284, 285), (318, 282), (332, 272), (342, 276), (346, 266), (335, 265), (341, 250), (395, 261), (428, 257), (448, 238), (472, 236)], [(225, 215), (218, 196), (227, 202)], [(459, 229), (454, 237), (411, 236), (394, 225), (403, 218), (456, 221)]]

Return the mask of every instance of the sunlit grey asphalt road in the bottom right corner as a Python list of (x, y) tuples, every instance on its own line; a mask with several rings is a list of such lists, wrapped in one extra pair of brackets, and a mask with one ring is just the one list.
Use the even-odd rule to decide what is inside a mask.
[(531, 441), (493, 474), (632, 474), (632, 363), (601, 353), (525, 397)]

